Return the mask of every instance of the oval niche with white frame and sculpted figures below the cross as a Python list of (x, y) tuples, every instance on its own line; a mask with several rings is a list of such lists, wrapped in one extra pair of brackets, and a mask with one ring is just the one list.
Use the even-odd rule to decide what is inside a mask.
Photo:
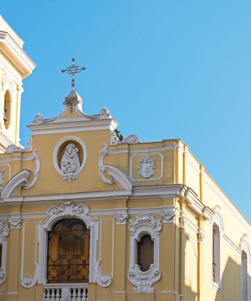
[(85, 143), (78, 137), (68, 136), (58, 142), (53, 153), (53, 163), (62, 180), (69, 183), (78, 178), (87, 158)]

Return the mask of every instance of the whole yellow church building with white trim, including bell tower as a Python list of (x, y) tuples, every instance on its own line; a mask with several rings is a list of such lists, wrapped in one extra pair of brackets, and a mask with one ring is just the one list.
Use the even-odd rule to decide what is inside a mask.
[(250, 223), (182, 140), (123, 137), (71, 91), (20, 145), (22, 47), (1, 17), (0, 300), (251, 300)]

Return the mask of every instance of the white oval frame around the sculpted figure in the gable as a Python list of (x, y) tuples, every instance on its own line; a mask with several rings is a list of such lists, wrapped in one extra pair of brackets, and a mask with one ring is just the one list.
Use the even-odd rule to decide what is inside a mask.
[(77, 142), (81, 145), (81, 147), (82, 147), (82, 149), (83, 149), (83, 162), (82, 162), (82, 164), (81, 164), (79, 170), (78, 170), (76, 173), (74, 173), (74, 175), (78, 175), (78, 174), (82, 171), (82, 169), (85, 167), (85, 164), (86, 164), (86, 161), (87, 161), (87, 148), (86, 148), (85, 143), (84, 143), (80, 138), (78, 138), (78, 137), (76, 137), (76, 136), (67, 136), (67, 137), (64, 137), (63, 139), (61, 139), (61, 140), (57, 143), (57, 145), (56, 145), (55, 148), (54, 148), (54, 152), (53, 152), (53, 164), (54, 164), (54, 167), (55, 167), (57, 173), (58, 173), (61, 177), (62, 177), (62, 171), (61, 171), (60, 167), (58, 166), (57, 153), (58, 153), (58, 150), (59, 150), (60, 146), (61, 146), (64, 142), (66, 142), (66, 141), (68, 141), (68, 140), (77, 141)]

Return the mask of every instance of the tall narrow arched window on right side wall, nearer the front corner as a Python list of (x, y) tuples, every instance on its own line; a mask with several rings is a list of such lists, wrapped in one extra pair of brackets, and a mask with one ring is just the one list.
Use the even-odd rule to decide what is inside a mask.
[(219, 226), (213, 224), (213, 281), (215, 283), (220, 282), (220, 231)]

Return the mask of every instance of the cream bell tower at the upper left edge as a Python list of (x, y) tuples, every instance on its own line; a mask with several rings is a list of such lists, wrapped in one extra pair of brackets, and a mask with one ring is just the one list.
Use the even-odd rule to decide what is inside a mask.
[(23, 79), (36, 67), (23, 50), (24, 41), (0, 15), (0, 153), (20, 146), (20, 106)]

